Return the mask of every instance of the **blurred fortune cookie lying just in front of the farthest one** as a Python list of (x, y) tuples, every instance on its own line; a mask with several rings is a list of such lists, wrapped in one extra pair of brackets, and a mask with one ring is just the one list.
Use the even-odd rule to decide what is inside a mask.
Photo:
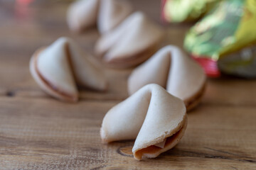
[(156, 52), (164, 30), (142, 12), (132, 13), (97, 40), (95, 54), (112, 68), (134, 67)]

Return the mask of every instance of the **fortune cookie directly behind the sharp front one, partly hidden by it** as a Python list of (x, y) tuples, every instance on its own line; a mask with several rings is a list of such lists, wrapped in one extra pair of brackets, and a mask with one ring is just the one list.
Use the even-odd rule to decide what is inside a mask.
[(201, 101), (206, 75), (200, 65), (178, 47), (168, 45), (134, 69), (128, 79), (129, 94), (152, 83), (181, 98), (189, 111)]

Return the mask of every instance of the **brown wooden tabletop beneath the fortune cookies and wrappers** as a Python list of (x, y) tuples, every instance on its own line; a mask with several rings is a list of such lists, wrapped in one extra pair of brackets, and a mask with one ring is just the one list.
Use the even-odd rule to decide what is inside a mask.
[[(60, 36), (92, 53), (99, 33), (70, 33), (68, 2), (36, 1), (30, 7), (0, 0), (0, 169), (256, 169), (256, 81), (208, 79), (203, 101), (188, 113), (181, 142), (156, 159), (138, 162), (134, 141), (103, 145), (105, 113), (127, 98), (131, 69), (106, 69), (110, 89), (82, 90), (78, 103), (62, 103), (38, 88), (28, 70), (33, 52)], [(156, 22), (160, 2), (133, 0)], [(182, 46), (190, 26), (165, 26), (163, 45)], [(157, 167), (157, 168), (156, 168)]]

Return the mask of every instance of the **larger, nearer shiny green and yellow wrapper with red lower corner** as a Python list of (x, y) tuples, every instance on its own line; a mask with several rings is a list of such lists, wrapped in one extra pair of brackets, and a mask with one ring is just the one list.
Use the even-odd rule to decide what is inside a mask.
[(220, 2), (188, 31), (184, 47), (210, 77), (256, 77), (256, 0)]

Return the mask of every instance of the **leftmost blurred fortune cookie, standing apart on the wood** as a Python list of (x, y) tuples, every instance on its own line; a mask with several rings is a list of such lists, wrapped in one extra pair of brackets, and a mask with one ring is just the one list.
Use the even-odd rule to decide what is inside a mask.
[(70, 38), (59, 38), (37, 50), (31, 57), (30, 70), (41, 89), (61, 101), (78, 101), (77, 85), (107, 89), (101, 70)]

